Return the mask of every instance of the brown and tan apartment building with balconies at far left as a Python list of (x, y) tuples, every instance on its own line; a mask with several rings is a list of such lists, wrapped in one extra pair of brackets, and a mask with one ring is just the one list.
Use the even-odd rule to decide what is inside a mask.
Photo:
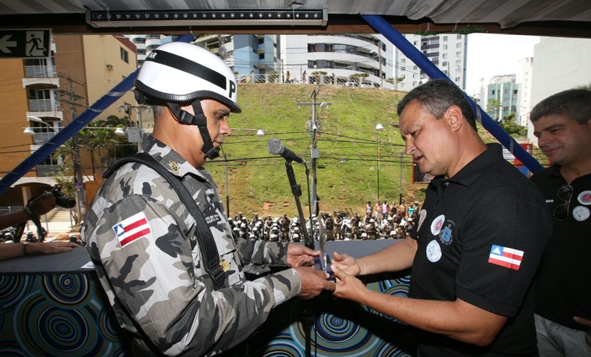
[[(135, 46), (124, 36), (54, 35), (51, 49), (48, 58), (2, 60), (1, 176), (41, 148), (137, 66)], [(125, 113), (118, 111), (118, 104), (133, 103), (135, 98), (130, 91), (96, 120), (106, 120), (109, 115), (122, 117)], [(25, 134), (23, 129), (32, 135)], [(100, 158), (94, 159), (81, 151), (85, 182), (94, 179), (93, 165), (100, 165)], [(0, 206), (23, 205), (28, 198), (47, 189), (47, 185), (55, 185), (54, 175), (64, 160), (55, 153), (49, 155), (0, 196)]]

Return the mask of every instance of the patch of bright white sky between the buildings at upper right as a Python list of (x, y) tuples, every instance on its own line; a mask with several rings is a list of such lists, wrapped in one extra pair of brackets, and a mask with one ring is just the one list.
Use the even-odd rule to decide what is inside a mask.
[(467, 47), (466, 94), (480, 93), (480, 78), (517, 74), (517, 62), (533, 57), (539, 36), (469, 34)]

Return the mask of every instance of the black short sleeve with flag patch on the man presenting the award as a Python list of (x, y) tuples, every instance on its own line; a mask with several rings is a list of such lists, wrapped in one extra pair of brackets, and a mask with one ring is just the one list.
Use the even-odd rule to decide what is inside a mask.
[(548, 211), (516, 187), (483, 192), (468, 211), (460, 230), (456, 296), (495, 314), (515, 316), (552, 230)]

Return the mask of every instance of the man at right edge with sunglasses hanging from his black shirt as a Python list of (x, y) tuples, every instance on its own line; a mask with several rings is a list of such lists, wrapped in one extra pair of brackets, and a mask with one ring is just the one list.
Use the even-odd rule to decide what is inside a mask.
[(530, 119), (553, 163), (531, 178), (554, 216), (535, 279), (537, 346), (542, 356), (591, 356), (591, 91), (551, 95)]

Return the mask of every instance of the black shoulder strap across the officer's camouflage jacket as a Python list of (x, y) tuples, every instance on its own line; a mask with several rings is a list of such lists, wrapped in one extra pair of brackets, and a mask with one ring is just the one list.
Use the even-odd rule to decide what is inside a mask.
[(201, 251), (201, 255), (203, 256), (203, 261), (205, 262), (205, 271), (207, 271), (214, 284), (217, 287), (221, 287), (224, 285), (225, 282), (225, 273), (220, 265), (220, 258), (216, 243), (214, 241), (212, 232), (210, 231), (210, 227), (208, 226), (207, 222), (205, 222), (205, 218), (203, 218), (203, 214), (199, 210), (197, 203), (195, 203), (193, 197), (189, 193), (187, 187), (181, 183), (177, 177), (171, 174), (164, 166), (161, 165), (156, 159), (147, 154), (146, 152), (137, 152), (136, 154), (131, 155), (130, 157), (124, 157), (123, 159), (119, 159), (115, 161), (111, 168), (105, 172), (102, 177), (107, 179), (115, 170), (120, 168), (122, 165), (126, 163), (141, 163), (142, 165), (148, 166), (155, 172), (158, 172), (170, 185), (181, 201), (186, 205), (189, 209), (189, 213), (193, 216), (194, 220), (197, 222), (197, 240), (199, 241), (199, 251)]

